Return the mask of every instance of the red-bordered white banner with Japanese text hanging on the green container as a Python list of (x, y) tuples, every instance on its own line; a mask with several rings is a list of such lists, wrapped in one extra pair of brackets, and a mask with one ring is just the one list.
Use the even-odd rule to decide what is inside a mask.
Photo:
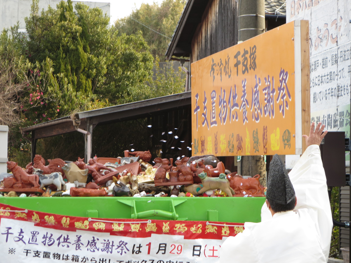
[(1, 262), (213, 263), (242, 223), (94, 219), (0, 204)]

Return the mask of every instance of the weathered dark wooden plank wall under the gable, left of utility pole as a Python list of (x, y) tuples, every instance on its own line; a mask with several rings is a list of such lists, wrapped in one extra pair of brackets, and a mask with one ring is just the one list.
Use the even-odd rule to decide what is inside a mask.
[(212, 55), (238, 42), (238, 3), (235, 0), (208, 2), (191, 42), (191, 62)]

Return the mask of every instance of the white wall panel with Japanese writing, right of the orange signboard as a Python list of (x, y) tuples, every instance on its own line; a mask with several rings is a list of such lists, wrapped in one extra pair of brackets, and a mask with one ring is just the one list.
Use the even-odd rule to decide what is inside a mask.
[(296, 19), (310, 21), (311, 121), (350, 137), (351, 0), (287, 0)]

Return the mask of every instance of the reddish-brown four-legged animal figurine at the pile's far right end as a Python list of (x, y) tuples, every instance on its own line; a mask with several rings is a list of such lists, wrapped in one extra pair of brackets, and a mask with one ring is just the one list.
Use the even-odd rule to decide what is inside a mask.
[(227, 176), (231, 188), (236, 194), (240, 195), (256, 195), (264, 194), (263, 186), (259, 182), (260, 175), (257, 174), (252, 178), (244, 179), (241, 176)]

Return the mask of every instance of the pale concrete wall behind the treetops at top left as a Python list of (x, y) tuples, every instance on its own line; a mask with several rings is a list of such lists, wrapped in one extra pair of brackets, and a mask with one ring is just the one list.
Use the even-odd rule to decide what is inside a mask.
[[(47, 10), (50, 5), (56, 8), (56, 5), (60, 1), (58, 0), (39, 0), (39, 12), (42, 9)], [(80, 1), (72, 1), (73, 7)], [(81, 1), (90, 8), (99, 7), (102, 12), (110, 17), (110, 3), (109, 2), (86, 2)], [(26, 29), (26, 23), (24, 21), (26, 16), (29, 16), (31, 11), (32, 0), (0, 0), (0, 29), (9, 28), (19, 21), (20, 29), (24, 31)]]

